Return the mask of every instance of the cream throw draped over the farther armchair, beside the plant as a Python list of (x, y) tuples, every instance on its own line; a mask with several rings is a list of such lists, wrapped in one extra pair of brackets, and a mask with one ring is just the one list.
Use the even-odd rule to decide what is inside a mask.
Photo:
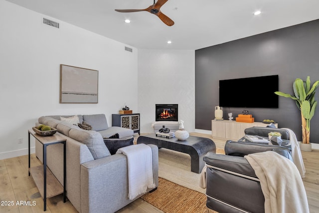
[(303, 156), (300, 151), (300, 145), (297, 140), (296, 134), (291, 129), (282, 128), (284, 130), (287, 130), (289, 132), (289, 140), (291, 145), (291, 154), (294, 160), (294, 163), (301, 175), (302, 178), (305, 178), (306, 169), (303, 161)]

